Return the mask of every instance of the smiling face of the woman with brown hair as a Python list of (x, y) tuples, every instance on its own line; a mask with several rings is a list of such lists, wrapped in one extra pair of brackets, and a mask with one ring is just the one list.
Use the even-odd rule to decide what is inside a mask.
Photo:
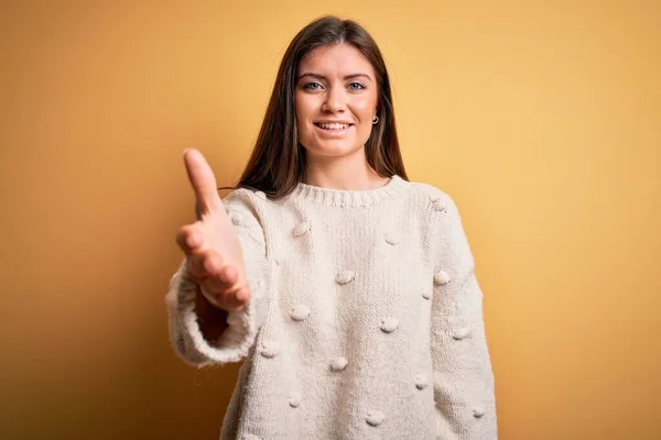
[(337, 157), (365, 146), (378, 90), (371, 64), (356, 48), (313, 50), (299, 65), (294, 95), (299, 142), (308, 155)]

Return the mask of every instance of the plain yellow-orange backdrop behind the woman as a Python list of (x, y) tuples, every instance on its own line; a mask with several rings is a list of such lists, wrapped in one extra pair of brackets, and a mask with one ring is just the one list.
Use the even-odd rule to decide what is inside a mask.
[(661, 6), (624, 0), (3, 1), (0, 437), (217, 438), (236, 366), (166, 340), (181, 152), (232, 184), (324, 13), (376, 37), (410, 176), (462, 210), (500, 438), (658, 439)]

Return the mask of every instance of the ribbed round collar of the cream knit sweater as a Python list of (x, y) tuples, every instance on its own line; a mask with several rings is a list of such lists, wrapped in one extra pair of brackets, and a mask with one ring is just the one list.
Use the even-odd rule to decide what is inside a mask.
[(330, 189), (307, 184), (299, 184), (290, 195), (292, 200), (313, 202), (334, 207), (366, 207), (394, 200), (405, 194), (411, 183), (398, 175), (388, 184), (373, 189), (350, 190)]

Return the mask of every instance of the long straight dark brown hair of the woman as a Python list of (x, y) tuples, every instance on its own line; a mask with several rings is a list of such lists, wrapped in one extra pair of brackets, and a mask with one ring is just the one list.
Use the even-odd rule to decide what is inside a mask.
[(257, 143), (237, 187), (280, 198), (304, 182), (305, 150), (299, 145), (294, 101), (296, 70), (301, 59), (314, 48), (339, 43), (360, 51), (377, 77), (379, 123), (365, 144), (367, 162), (381, 177), (397, 174), (408, 179), (397, 136), (390, 78), (381, 51), (360, 24), (326, 15), (303, 28), (284, 53)]

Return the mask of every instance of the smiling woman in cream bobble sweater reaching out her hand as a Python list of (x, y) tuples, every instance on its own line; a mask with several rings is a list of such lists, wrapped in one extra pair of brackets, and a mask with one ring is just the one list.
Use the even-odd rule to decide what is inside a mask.
[(323, 18), (290, 44), (239, 189), (194, 150), (170, 337), (245, 359), (223, 439), (497, 438), (483, 295), (453, 200), (408, 182), (370, 35)]

